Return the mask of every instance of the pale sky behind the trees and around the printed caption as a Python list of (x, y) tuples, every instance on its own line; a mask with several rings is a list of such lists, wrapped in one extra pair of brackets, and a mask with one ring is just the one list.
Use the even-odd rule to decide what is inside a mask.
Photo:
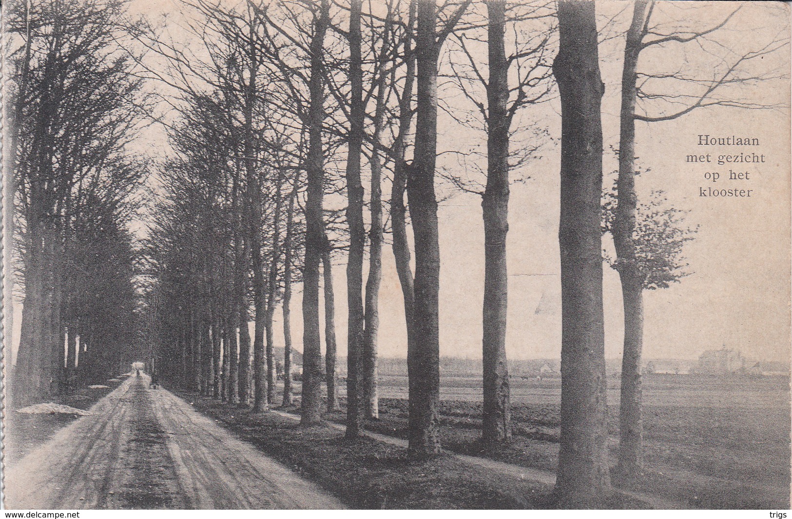
[[(731, 6), (722, 2), (696, 13), (697, 19), (719, 21)], [(748, 45), (759, 36), (786, 31), (788, 11), (762, 2), (745, 2), (741, 29), (733, 32), (729, 45)], [(176, 9), (174, 3), (131, 2), (132, 10), (152, 14)], [(600, 15), (613, 15), (626, 2), (599, 2)], [(689, 6), (689, 5), (688, 5)], [(668, 5), (669, 12), (674, 6)], [(630, 11), (630, 10), (628, 10)], [(786, 17), (779, 16), (786, 13)], [(631, 13), (623, 13), (619, 27), (625, 27)], [(699, 18), (700, 17), (700, 18)], [(700, 27), (700, 26), (699, 26)], [(758, 36), (757, 36), (758, 35)], [(746, 37), (748, 36), (748, 37)], [(609, 40), (600, 48), (606, 95), (603, 101), (604, 146), (618, 147), (619, 81), (623, 38)], [(695, 55), (669, 50), (668, 63)], [(652, 67), (667, 63), (666, 58), (647, 55), (639, 64)], [(789, 49), (775, 57), (786, 63)], [(706, 71), (706, 60), (699, 67)], [(762, 86), (758, 87), (762, 89)], [(760, 98), (789, 102), (787, 81), (781, 87), (761, 90)], [(554, 139), (560, 137), (558, 101), (527, 109), (524, 120), (547, 128)], [(759, 147), (703, 147), (698, 135), (756, 137)], [(441, 116), (439, 149), (462, 148), (470, 142), (485, 142), (483, 134), (459, 128)], [(700, 109), (679, 120), (637, 124), (637, 153), (651, 171), (638, 177), (638, 193), (646, 196), (652, 189), (664, 189), (678, 208), (691, 210), (691, 225), (700, 224), (695, 242), (686, 250), (693, 272), (671, 288), (645, 292), (645, 358), (696, 358), (705, 349), (723, 345), (739, 349), (746, 357), (762, 360), (790, 358), (790, 114), (783, 110)], [(161, 155), (162, 139), (150, 138), (147, 153)], [(694, 153), (755, 152), (766, 156), (763, 164), (734, 165), (748, 170), (748, 181), (727, 181), (729, 166), (687, 164), (685, 156)], [(164, 151), (163, 151), (164, 152)], [(558, 358), (561, 351), (561, 297), (558, 276), (558, 144), (541, 151), (543, 158), (531, 162), (520, 174), (531, 179), (512, 187), (508, 234), (509, 314), (507, 353), (510, 358)], [(615, 170), (615, 160), (606, 153), (604, 172)], [(707, 166), (711, 166), (707, 167)], [(708, 170), (722, 173), (717, 183), (705, 181)], [(516, 175), (516, 174), (515, 174)], [(364, 184), (365, 184), (364, 180)], [(606, 177), (606, 185), (610, 185)], [(699, 187), (753, 189), (750, 198), (702, 198)], [(383, 191), (390, 193), (390, 186)], [(386, 206), (387, 207), (387, 206)], [(459, 194), (440, 207), (440, 354), (455, 357), (481, 357), (483, 299), (483, 224), (480, 199)], [(610, 236), (604, 247), (611, 248)], [(338, 258), (345, 261), (345, 258)], [(346, 351), (345, 265), (337, 265), (337, 342), (339, 355)], [(292, 333), (295, 347), (302, 349), (302, 314), (299, 286), (292, 303)], [(623, 322), (618, 274), (605, 265), (604, 302), (606, 357), (619, 357)], [(19, 310), (15, 328), (18, 337)], [(276, 314), (280, 326), (280, 310)], [(280, 330), (276, 345), (282, 345)], [(324, 339), (322, 339), (324, 349)], [(383, 284), (380, 292), (379, 354), (406, 357), (406, 332), (401, 290), (395, 273), (390, 246), (383, 250)]]

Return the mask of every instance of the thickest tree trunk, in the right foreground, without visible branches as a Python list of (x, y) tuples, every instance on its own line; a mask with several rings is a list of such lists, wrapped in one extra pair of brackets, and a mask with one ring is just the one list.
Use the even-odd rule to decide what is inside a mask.
[(562, 506), (611, 496), (602, 300), (602, 123), (594, 2), (561, 0), (553, 73), (562, 103), (562, 397), (556, 492)]

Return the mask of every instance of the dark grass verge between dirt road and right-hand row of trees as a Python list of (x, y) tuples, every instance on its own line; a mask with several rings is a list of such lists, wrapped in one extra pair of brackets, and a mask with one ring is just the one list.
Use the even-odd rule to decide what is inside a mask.
[[(329, 426), (303, 428), (274, 413), (251, 414), (209, 397), (173, 390), (262, 452), (359, 509), (547, 509), (552, 487), (441, 455), (407, 459), (406, 449), (370, 438), (348, 441)], [(608, 508), (642, 508), (623, 496)]]

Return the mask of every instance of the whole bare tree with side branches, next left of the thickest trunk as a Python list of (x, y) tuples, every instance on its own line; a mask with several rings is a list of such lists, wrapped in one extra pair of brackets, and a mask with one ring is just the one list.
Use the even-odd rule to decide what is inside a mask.
[[(512, 121), (520, 109), (543, 102), (550, 96), (550, 63), (545, 51), (551, 31), (546, 27), (522, 35), (514, 42), (515, 50), (506, 54), (507, 29), (517, 32), (516, 25), (525, 25), (531, 18), (542, 20), (550, 17), (546, 7), (516, 6), (509, 9), (505, 0), (486, 2), (487, 7), (487, 50), (488, 74), (478, 65), (478, 58), (470, 43), (478, 40), (476, 33), (466, 36), (459, 32), (455, 39), (458, 50), (466, 63), (456, 64), (449, 60), (451, 80), (476, 106), (487, 134), (486, 187), (473, 187), (474, 181), (452, 174), (444, 177), (459, 189), (476, 193), (482, 197), (485, 243), (484, 303), (482, 309), (482, 364), (484, 374), (484, 402), (482, 440), (485, 444), (508, 442), (512, 437), (509, 409), (509, 380), (506, 359), (506, 317), (508, 305), (508, 273), (506, 266), (506, 235), (508, 233), (508, 197), (512, 171), (510, 141)], [(544, 24), (543, 24), (544, 25)], [(474, 26), (474, 29), (478, 29)], [(509, 74), (516, 75), (514, 86), (509, 85)], [(483, 86), (486, 102), (477, 95), (476, 87)], [(469, 117), (458, 122), (473, 125)], [(524, 132), (524, 131), (523, 131)], [(523, 133), (520, 132), (520, 133)], [(542, 144), (535, 132), (529, 133), (534, 140), (520, 146), (518, 164), (535, 152)], [(538, 142), (537, 142), (538, 141)], [(466, 164), (466, 166), (472, 166)], [(468, 167), (466, 167), (468, 169)]]

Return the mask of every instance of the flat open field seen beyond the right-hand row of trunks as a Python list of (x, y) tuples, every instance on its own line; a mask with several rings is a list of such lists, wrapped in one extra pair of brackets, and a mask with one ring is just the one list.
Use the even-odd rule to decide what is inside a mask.
[[(554, 471), (558, 464), (561, 379), (512, 379), (512, 445), (486, 452), (481, 379), (442, 379), (440, 437), (445, 448)], [(788, 508), (790, 386), (786, 377), (644, 379), (645, 472), (623, 482), (692, 508)], [(343, 391), (342, 391), (343, 395)], [(380, 419), (369, 429), (407, 437), (406, 377), (381, 379)], [(608, 381), (611, 465), (619, 437), (619, 380)], [(343, 404), (343, 402), (342, 402)], [(343, 408), (329, 416), (344, 420)]]

